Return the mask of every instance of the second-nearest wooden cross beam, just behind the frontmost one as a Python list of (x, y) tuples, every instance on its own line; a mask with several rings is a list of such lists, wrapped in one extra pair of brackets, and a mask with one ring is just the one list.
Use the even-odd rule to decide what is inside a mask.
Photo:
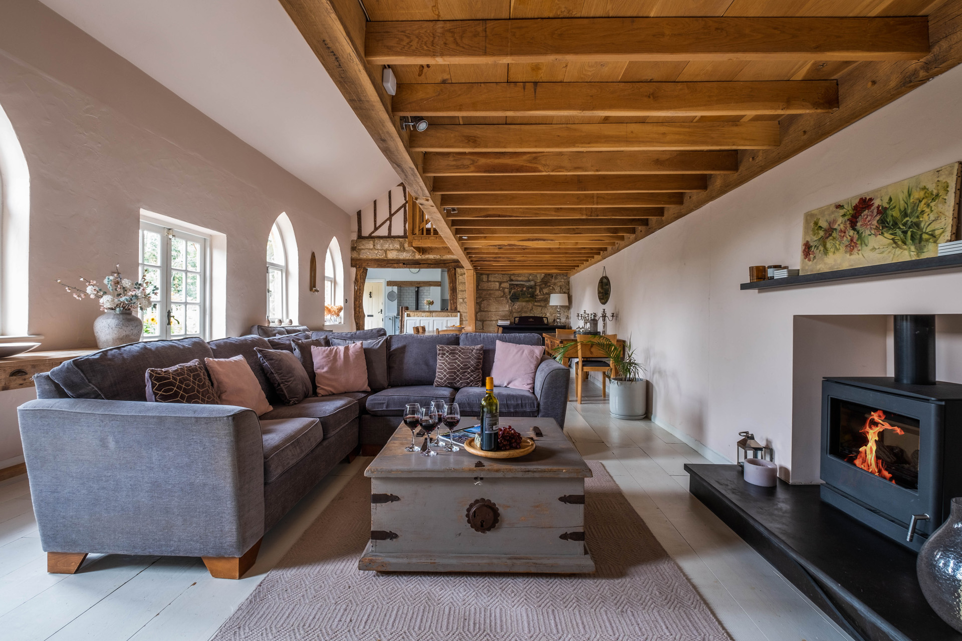
[(398, 85), (395, 115), (700, 116), (838, 109), (834, 80)]

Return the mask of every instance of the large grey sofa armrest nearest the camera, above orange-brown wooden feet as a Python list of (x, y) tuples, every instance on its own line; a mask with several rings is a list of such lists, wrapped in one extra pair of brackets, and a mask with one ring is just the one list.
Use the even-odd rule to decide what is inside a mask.
[(250, 409), (45, 399), (17, 415), (47, 552), (241, 556), (264, 535)]

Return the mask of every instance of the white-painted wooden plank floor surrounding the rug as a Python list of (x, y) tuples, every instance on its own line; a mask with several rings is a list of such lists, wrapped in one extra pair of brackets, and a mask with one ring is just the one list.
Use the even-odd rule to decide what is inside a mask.
[[(682, 466), (707, 460), (651, 422), (611, 418), (600, 388), (586, 390), (565, 431), (604, 463), (733, 639), (850, 641), (688, 493)], [(321, 481), (237, 581), (212, 579), (199, 558), (159, 556), (90, 555), (79, 574), (48, 575), (26, 478), (0, 482), (0, 639), (206, 641), (369, 460)]]

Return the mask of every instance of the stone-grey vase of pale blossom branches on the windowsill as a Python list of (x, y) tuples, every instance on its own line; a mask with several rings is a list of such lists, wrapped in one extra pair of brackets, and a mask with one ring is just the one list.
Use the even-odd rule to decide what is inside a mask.
[(148, 310), (155, 314), (157, 311), (157, 304), (152, 298), (157, 295), (159, 288), (147, 280), (146, 272), (141, 280), (131, 281), (120, 275), (120, 265), (116, 265), (114, 273), (104, 279), (106, 289), (96, 281), (85, 278), (80, 281), (85, 285), (83, 288), (64, 284), (61, 280), (57, 283), (62, 284), (78, 301), (85, 298), (97, 301), (104, 312), (93, 321), (97, 347), (105, 349), (139, 341), (143, 334), (143, 321), (134, 315), (134, 310)]

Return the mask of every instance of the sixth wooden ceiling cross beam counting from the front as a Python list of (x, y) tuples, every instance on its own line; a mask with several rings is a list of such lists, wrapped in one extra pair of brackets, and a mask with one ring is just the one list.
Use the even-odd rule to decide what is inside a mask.
[[(468, 210), (517, 207), (665, 207), (685, 202), (680, 191), (667, 193), (451, 193), (441, 197), (444, 208)], [(448, 212), (449, 214), (453, 212)]]

